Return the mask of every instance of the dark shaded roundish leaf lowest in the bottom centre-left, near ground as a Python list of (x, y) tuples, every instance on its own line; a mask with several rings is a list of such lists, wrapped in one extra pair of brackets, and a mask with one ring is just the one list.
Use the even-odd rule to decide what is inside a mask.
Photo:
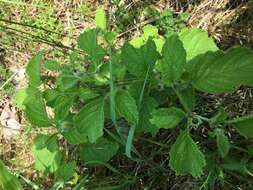
[(95, 144), (84, 144), (80, 150), (80, 157), (84, 162), (108, 162), (118, 151), (119, 145), (115, 141), (100, 138)]

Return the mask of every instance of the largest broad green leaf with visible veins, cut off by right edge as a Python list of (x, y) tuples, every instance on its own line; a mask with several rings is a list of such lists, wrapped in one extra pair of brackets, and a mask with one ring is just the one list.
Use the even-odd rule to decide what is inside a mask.
[(253, 85), (253, 52), (233, 48), (226, 53), (206, 53), (189, 65), (194, 87), (209, 93), (224, 93), (240, 85)]

